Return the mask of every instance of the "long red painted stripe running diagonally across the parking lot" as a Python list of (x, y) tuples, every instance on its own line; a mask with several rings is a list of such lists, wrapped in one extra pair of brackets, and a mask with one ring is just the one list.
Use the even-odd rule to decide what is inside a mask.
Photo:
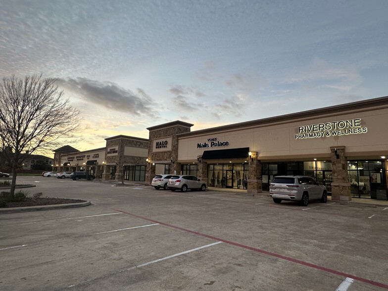
[(143, 216), (140, 216), (140, 215), (137, 215), (137, 214), (125, 212), (123, 210), (118, 210), (118, 209), (114, 209), (114, 208), (110, 208), (110, 207), (107, 207), (107, 208), (112, 209), (114, 211), (125, 213), (125, 214), (133, 216), (133, 217), (137, 217), (137, 218), (140, 218), (140, 219), (143, 219), (143, 220), (146, 220), (146, 221), (158, 223), (160, 225), (164, 225), (164, 226), (171, 227), (171, 228), (174, 228), (174, 229), (178, 229), (178, 230), (181, 230), (181, 231), (184, 231), (184, 232), (187, 232), (187, 233), (191, 233), (191, 234), (194, 234), (194, 235), (197, 235), (197, 236), (201, 236), (201, 237), (205, 237), (205, 238), (208, 238), (208, 239), (212, 239), (212, 240), (216, 240), (216, 241), (220, 241), (220, 242), (225, 242), (225, 243), (228, 243), (228, 244), (236, 245), (236, 246), (239, 246), (239, 247), (242, 247), (242, 248), (245, 248), (245, 249), (249, 249), (249, 250), (252, 250), (252, 251), (255, 251), (255, 252), (263, 253), (263, 254), (266, 254), (266, 255), (269, 255), (269, 256), (273, 256), (273, 257), (276, 257), (276, 258), (280, 258), (280, 259), (283, 259), (283, 260), (286, 260), (286, 261), (290, 261), (290, 262), (293, 262), (293, 263), (296, 263), (296, 264), (300, 264), (300, 265), (303, 265), (303, 266), (308, 266), (308, 267), (311, 267), (311, 268), (314, 268), (314, 269), (322, 270), (322, 271), (325, 271), (325, 272), (328, 272), (328, 273), (332, 273), (332, 274), (335, 274), (335, 275), (339, 275), (339, 276), (343, 276), (343, 277), (348, 277), (348, 278), (351, 278), (351, 279), (354, 279), (354, 280), (357, 280), (357, 281), (360, 281), (360, 282), (364, 282), (364, 283), (367, 283), (367, 284), (370, 284), (370, 285), (374, 285), (374, 286), (382, 287), (384, 289), (388, 289), (388, 285), (384, 284), (384, 283), (368, 280), (368, 279), (365, 279), (365, 278), (357, 277), (357, 276), (350, 275), (350, 274), (347, 274), (347, 273), (343, 273), (343, 272), (340, 272), (340, 271), (336, 271), (336, 270), (333, 270), (333, 269), (325, 268), (325, 267), (322, 267), (322, 266), (319, 266), (319, 265), (307, 263), (307, 262), (304, 262), (304, 261), (300, 261), (300, 260), (297, 260), (297, 259), (293, 259), (293, 258), (290, 258), (290, 257), (283, 256), (283, 255), (280, 255), (280, 254), (277, 254), (277, 253), (273, 253), (273, 252), (269, 252), (269, 251), (266, 251), (266, 250), (258, 249), (258, 248), (255, 248), (255, 247), (251, 247), (251, 246), (248, 246), (248, 245), (244, 245), (244, 244), (241, 244), (241, 243), (238, 243), (238, 242), (231, 242), (231, 241), (223, 240), (223, 239), (216, 238), (216, 237), (213, 237), (213, 236), (201, 234), (201, 233), (194, 232), (192, 230), (185, 229), (185, 228), (182, 228), (182, 227), (179, 227), (179, 226), (175, 226), (175, 225), (172, 225), (172, 224), (160, 222), (160, 221), (153, 220), (153, 219), (150, 219), (150, 218), (146, 218), (146, 217), (143, 217)]

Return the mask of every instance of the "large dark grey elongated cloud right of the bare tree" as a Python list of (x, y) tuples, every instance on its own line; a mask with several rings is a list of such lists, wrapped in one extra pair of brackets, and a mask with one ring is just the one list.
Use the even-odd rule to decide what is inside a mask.
[(60, 79), (58, 85), (64, 87), (84, 100), (109, 110), (124, 112), (134, 116), (157, 117), (152, 109), (152, 98), (138, 88), (137, 94), (119, 87), (112, 82), (100, 82), (86, 78)]

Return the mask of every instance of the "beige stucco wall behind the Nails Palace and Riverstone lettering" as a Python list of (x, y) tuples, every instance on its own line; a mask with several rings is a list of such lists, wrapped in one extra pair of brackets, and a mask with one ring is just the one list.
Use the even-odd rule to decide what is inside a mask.
[[(367, 133), (342, 136), (329, 136), (296, 140), (298, 127), (318, 123), (328, 123), (341, 120), (360, 118), (361, 127), (367, 128)], [(197, 155), (204, 150), (249, 147), (258, 153), (258, 159), (265, 160), (311, 160), (311, 158), (330, 159), (330, 146), (345, 146), (348, 158), (380, 158), (388, 155), (388, 108), (358, 110), (344, 114), (333, 114), (314, 118), (294, 119), (292, 122), (260, 125), (238, 130), (219, 130), (214, 133), (196, 134), (190, 137), (179, 137), (178, 160), (196, 161)], [(229, 142), (228, 146), (197, 148), (198, 143), (209, 143), (207, 140), (217, 138), (220, 142)]]

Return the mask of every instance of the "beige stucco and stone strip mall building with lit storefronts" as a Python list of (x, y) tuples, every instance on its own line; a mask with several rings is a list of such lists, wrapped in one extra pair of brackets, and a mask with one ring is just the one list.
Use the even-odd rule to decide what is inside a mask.
[[(387, 125), (388, 97), (193, 132), (193, 124), (175, 121), (147, 128), (148, 140), (106, 139), (96, 163), (105, 180), (150, 184), (155, 174), (190, 174), (208, 187), (254, 194), (268, 191), (274, 176), (308, 175), (333, 200), (387, 199)], [(144, 168), (140, 180), (129, 175), (135, 165)]]

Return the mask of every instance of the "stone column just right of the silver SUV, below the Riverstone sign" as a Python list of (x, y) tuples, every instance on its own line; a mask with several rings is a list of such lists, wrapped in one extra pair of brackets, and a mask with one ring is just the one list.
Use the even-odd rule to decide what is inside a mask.
[(350, 183), (347, 180), (347, 159), (344, 146), (331, 146), (332, 155), (332, 200), (350, 201)]

